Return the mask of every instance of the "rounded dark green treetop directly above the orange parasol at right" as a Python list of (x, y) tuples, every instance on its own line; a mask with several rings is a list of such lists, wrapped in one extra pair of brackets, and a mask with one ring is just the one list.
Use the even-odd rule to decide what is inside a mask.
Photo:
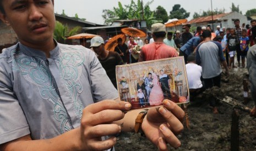
[(181, 8), (180, 4), (175, 4), (170, 11), (170, 19), (186, 19), (190, 13), (188, 13), (184, 8)]

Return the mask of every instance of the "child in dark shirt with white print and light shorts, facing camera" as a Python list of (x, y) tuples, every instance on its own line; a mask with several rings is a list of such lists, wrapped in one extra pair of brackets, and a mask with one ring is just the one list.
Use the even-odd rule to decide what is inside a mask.
[(227, 37), (227, 51), (228, 55), (230, 56), (230, 63), (228, 65), (228, 68), (237, 68), (235, 66), (235, 60), (234, 57), (236, 55), (236, 36), (235, 36), (235, 29), (230, 29), (230, 36)]

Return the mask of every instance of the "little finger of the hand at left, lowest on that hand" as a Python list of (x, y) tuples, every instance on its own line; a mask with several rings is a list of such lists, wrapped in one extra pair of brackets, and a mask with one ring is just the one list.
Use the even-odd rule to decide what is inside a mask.
[(107, 150), (112, 148), (117, 141), (116, 137), (110, 137), (105, 141), (93, 141), (90, 143), (89, 148), (90, 150)]

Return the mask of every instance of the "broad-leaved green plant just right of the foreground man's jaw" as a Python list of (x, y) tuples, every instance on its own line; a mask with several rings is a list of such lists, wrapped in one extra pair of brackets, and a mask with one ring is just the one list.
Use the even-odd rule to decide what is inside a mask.
[(66, 37), (78, 34), (81, 31), (81, 27), (77, 26), (69, 30), (68, 26), (64, 26), (61, 22), (56, 21), (55, 31), (53, 37), (60, 43), (65, 43)]

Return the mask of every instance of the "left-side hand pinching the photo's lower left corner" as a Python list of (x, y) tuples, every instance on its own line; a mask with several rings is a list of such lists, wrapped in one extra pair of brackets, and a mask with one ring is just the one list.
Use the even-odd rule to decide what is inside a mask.
[(112, 121), (124, 117), (122, 111), (127, 111), (131, 104), (123, 101), (105, 100), (90, 104), (83, 110), (81, 118), (81, 150), (106, 150), (114, 146), (117, 138), (112, 136), (105, 141), (102, 136), (115, 135), (121, 132), (121, 126), (111, 124)]

